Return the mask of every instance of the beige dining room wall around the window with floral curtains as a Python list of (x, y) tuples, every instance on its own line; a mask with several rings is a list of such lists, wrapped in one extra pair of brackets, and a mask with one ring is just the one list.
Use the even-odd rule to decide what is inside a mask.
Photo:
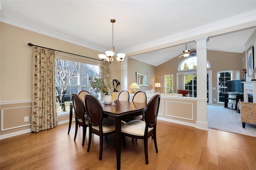
[[(95, 59), (100, 52), (2, 22), (0, 29), (0, 119), (3, 129), (9, 129), (0, 135), (5, 135), (30, 129), (28, 122), (24, 122), (24, 116), (29, 116), (30, 123), (32, 101), (33, 47), (28, 43)], [(120, 65), (112, 64), (111, 68), (112, 78), (120, 80)], [(65, 120), (68, 116), (58, 117), (58, 122)]]

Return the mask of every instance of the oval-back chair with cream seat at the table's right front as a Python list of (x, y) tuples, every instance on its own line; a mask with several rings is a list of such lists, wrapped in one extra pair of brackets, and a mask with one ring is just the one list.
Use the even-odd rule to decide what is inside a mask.
[(124, 146), (125, 136), (136, 139), (144, 139), (144, 152), (146, 164), (148, 164), (148, 138), (153, 135), (156, 153), (158, 153), (156, 145), (156, 120), (160, 104), (160, 94), (154, 95), (148, 102), (145, 113), (144, 121), (132, 120), (121, 126)]

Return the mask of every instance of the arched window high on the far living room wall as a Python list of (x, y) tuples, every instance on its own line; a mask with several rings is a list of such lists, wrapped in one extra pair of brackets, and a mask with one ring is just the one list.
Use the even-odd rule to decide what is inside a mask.
[[(197, 59), (196, 56), (186, 57), (180, 62), (178, 66), (178, 71), (196, 70), (197, 68), (196, 59)], [(210, 64), (208, 61), (207, 61), (207, 68), (210, 68)]]

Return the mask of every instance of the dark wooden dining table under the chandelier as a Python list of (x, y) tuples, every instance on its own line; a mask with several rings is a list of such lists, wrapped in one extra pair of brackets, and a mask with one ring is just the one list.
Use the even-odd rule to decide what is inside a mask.
[(104, 117), (115, 120), (116, 126), (116, 164), (117, 169), (121, 168), (121, 120), (127, 117), (141, 115), (146, 108), (145, 103), (127, 102), (116, 100), (115, 104), (102, 103)]

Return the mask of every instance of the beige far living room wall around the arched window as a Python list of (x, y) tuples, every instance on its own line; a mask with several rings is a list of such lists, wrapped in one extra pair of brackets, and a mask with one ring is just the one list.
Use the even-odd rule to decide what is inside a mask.
[[(210, 63), (210, 68), (212, 70), (212, 87), (215, 87), (216, 90), (212, 90), (212, 101), (213, 104), (217, 104), (217, 94), (218, 94), (218, 84), (217, 84), (217, 73), (220, 71), (229, 71), (229, 70), (240, 70), (240, 79), (242, 79), (242, 68), (245, 68), (244, 61), (245, 53), (229, 53), (222, 51), (207, 51), (207, 60)], [(163, 63), (156, 67), (156, 81), (160, 82), (161, 75), (173, 74), (174, 78), (174, 91), (177, 90), (176, 87), (176, 73), (178, 72), (178, 66), (183, 60), (183, 57), (176, 57)], [(186, 71), (187, 72), (187, 71)], [(216, 99), (214, 101), (213, 99)]]

